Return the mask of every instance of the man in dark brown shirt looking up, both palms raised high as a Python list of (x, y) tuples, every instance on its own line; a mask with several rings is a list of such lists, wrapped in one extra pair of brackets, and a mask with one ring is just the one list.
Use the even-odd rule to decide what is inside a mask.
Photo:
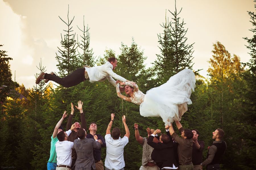
[[(74, 107), (73, 107), (73, 104), (71, 103), (71, 114), (69, 116), (69, 119), (67, 121), (67, 129), (70, 129), (71, 128), (71, 125), (74, 126), (74, 130), (70, 133), (69, 135), (69, 141), (71, 142), (74, 142), (75, 139), (78, 139), (77, 137), (77, 131), (82, 127), (83, 129), (86, 130), (86, 121), (85, 121), (85, 117), (84, 117), (84, 112), (83, 112), (83, 109), (82, 109), (82, 105), (83, 105), (83, 102), (82, 101), (78, 101), (78, 107), (75, 106), (79, 111), (80, 111), (80, 119), (81, 119), (81, 124), (82, 126), (80, 125), (79, 122), (75, 122), (73, 125), (72, 125), (72, 118), (73, 118), (73, 113), (74, 113)], [(75, 162), (76, 162), (76, 159), (77, 159), (77, 154), (76, 154), (76, 150), (73, 149), (72, 150), (72, 165), (71, 165), (71, 169), (75, 169)]]

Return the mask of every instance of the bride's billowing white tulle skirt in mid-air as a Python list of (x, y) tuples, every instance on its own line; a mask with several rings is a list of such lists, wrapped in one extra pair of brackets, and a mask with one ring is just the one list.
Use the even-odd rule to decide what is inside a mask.
[(184, 69), (159, 87), (146, 92), (140, 105), (140, 114), (144, 117), (161, 117), (165, 125), (180, 121), (187, 111), (191, 92), (195, 89), (195, 74), (190, 69)]

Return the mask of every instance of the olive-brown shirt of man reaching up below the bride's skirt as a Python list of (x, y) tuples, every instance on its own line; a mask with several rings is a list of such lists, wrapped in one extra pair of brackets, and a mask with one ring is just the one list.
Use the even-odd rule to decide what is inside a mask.
[[(184, 128), (180, 128), (179, 132), (182, 132)], [(179, 164), (188, 164), (192, 162), (192, 146), (193, 139), (184, 139), (179, 137), (176, 132), (172, 134), (172, 138), (176, 141), (178, 146)]]

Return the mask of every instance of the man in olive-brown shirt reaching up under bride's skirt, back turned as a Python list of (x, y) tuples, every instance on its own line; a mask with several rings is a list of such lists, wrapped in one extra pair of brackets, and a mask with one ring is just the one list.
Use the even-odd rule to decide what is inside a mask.
[[(176, 141), (178, 146), (178, 156), (179, 156), (179, 170), (193, 170), (194, 166), (192, 163), (192, 146), (193, 146), (193, 132), (189, 129), (182, 128), (179, 121), (175, 122), (181, 137), (177, 135), (174, 131), (172, 124), (169, 126), (169, 132), (174, 141)], [(166, 126), (168, 128), (168, 126)]]

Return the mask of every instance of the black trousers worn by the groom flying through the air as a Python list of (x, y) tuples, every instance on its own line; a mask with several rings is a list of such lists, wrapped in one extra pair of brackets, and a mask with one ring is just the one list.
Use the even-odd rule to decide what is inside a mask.
[(85, 71), (85, 68), (79, 68), (74, 70), (72, 73), (70, 73), (69, 75), (63, 78), (45, 73), (44, 79), (54, 81), (64, 87), (72, 87), (86, 80), (84, 77), (84, 71)]

